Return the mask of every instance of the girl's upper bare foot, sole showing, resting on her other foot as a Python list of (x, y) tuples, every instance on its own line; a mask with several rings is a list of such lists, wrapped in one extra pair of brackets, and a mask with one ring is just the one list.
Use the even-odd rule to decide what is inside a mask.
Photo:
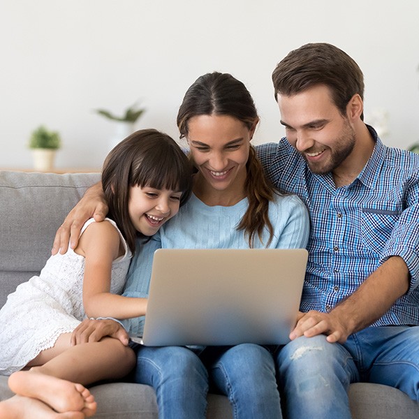
[(8, 385), (17, 395), (41, 400), (57, 412), (80, 411), (86, 417), (96, 413), (94, 397), (83, 385), (36, 372), (36, 369), (14, 372)]

